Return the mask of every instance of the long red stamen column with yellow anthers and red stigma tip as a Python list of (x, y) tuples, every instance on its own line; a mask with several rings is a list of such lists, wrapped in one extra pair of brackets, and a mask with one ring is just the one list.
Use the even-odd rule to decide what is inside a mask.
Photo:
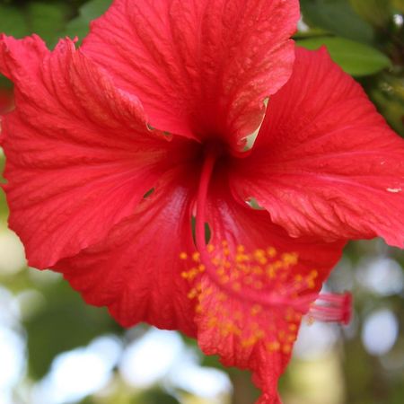
[(189, 263), (189, 270), (181, 274), (191, 285), (189, 299), (197, 302), (197, 312), (204, 312), (207, 327), (240, 338), (242, 347), (263, 339), (268, 351), (288, 354), (303, 315), (309, 313), (309, 321), (347, 323), (351, 295), (319, 295), (318, 271), (299, 266), (296, 252), (280, 253), (275, 246), (250, 250), (226, 240), (206, 245), (206, 196), (219, 154), (214, 147), (206, 150), (201, 171), (195, 227), (198, 251), (180, 253), (180, 259)]

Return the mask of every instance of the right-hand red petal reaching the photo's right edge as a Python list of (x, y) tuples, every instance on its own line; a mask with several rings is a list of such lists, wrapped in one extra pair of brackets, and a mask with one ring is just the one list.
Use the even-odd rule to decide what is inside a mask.
[(298, 237), (404, 246), (404, 140), (325, 49), (299, 49), (233, 187)]

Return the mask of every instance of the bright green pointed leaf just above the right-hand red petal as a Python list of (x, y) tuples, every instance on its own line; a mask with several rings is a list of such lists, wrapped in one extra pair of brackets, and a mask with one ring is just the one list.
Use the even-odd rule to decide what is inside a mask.
[(318, 49), (325, 45), (334, 62), (338, 63), (349, 75), (373, 75), (391, 66), (390, 59), (382, 52), (353, 40), (322, 37), (298, 40), (297, 44), (307, 49)]

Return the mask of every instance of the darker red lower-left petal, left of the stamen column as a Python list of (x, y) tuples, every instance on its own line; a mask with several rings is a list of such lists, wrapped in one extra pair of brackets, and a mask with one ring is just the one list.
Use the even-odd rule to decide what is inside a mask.
[(167, 173), (150, 197), (112, 228), (105, 241), (59, 261), (87, 303), (106, 305), (125, 327), (147, 321), (195, 335), (189, 286), (180, 252), (192, 245), (192, 183), (184, 170)]

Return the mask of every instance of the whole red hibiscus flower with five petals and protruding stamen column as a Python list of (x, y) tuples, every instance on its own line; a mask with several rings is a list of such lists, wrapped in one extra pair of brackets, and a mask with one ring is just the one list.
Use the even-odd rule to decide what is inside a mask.
[(348, 295), (319, 296), (347, 240), (404, 243), (404, 142), (324, 49), (294, 52), (298, 16), (116, 0), (78, 50), (0, 38), (4, 189), (31, 266), (250, 369), (261, 404), (304, 314), (347, 321)]

